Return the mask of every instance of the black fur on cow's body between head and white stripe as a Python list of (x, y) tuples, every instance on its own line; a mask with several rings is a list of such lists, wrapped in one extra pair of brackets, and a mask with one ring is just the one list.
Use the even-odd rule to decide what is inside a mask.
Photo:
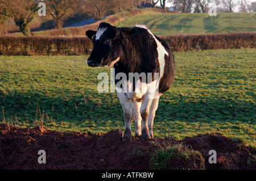
[(158, 62), (157, 45), (150, 33), (144, 28), (120, 28), (119, 42), (121, 47), (120, 61), (114, 65), (115, 73), (122, 72), (126, 74), (127, 80), (129, 73), (145, 73), (148, 83), (147, 73), (160, 71)]

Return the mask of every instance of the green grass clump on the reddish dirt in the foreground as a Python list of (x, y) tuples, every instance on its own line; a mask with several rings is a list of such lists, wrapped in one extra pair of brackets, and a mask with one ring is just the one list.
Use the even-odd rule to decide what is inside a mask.
[(183, 144), (167, 145), (155, 150), (149, 166), (153, 170), (189, 169), (182, 167), (188, 161), (193, 161), (193, 169), (204, 169), (204, 158), (200, 151), (189, 149)]

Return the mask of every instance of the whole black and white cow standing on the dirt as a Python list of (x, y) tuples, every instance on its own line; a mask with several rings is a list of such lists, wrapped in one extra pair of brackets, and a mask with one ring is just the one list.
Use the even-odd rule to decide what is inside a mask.
[[(125, 118), (122, 139), (131, 140), (133, 116), (136, 125), (135, 137), (141, 136), (142, 140), (153, 138), (153, 121), (159, 98), (170, 88), (175, 77), (174, 56), (170, 48), (144, 25), (117, 28), (108, 23), (101, 23), (97, 31), (88, 30), (86, 35), (94, 44), (87, 61), (89, 66), (114, 65), (115, 75), (127, 75), (127, 80), (117, 87)], [(141, 84), (140, 91), (135, 91), (137, 87), (134, 86), (133, 80), (128, 79), (129, 73), (152, 73), (151, 81), (146, 79), (146, 84)], [(158, 73), (158, 79), (154, 77), (154, 73)], [(115, 76), (116, 85), (118, 81)], [(142, 81), (141, 78), (138, 81)], [(158, 94), (156, 91), (149, 91), (149, 85), (152, 86), (152, 83), (158, 88)], [(133, 91), (129, 88), (129, 91), (122, 91), (126, 88), (123, 85), (133, 87)]]

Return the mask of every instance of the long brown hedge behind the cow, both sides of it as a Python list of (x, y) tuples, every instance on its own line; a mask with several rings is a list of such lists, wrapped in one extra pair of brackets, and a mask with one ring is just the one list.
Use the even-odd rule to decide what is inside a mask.
[[(216, 33), (205, 35), (159, 36), (172, 51), (255, 48), (256, 32)], [(90, 53), (93, 43), (88, 37), (2, 36), (1, 55), (52, 55)]]

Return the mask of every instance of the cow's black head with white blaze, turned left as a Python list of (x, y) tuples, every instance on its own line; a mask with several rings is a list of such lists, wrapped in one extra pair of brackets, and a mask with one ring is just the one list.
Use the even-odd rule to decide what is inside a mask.
[(101, 23), (98, 31), (88, 30), (86, 36), (94, 47), (87, 60), (89, 66), (112, 66), (119, 61), (119, 30), (108, 23)]

